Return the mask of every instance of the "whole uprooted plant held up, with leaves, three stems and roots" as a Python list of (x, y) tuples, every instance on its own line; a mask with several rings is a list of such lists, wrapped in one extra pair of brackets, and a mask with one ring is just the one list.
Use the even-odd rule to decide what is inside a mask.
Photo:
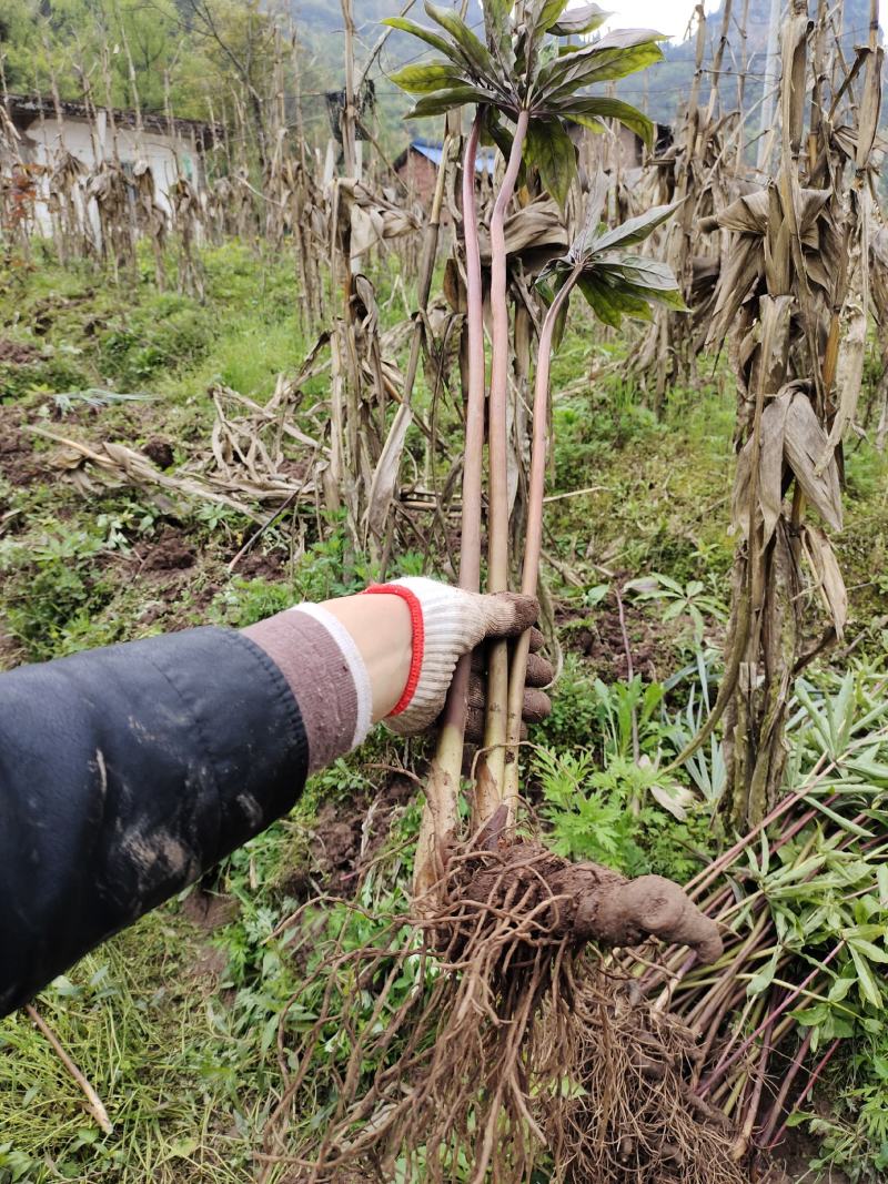
[[(607, 186), (599, 178), (572, 247), (553, 259), (538, 281), (545, 315), (538, 341), (523, 554), (520, 561), (510, 556), (507, 211), (522, 175), (528, 185), (533, 175), (534, 184), (564, 205), (577, 174), (577, 149), (567, 124), (600, 130), (601, 117), (616, 117), (650, 141), (652, 129), (641, 112), (583, 91), (592, 82), (622, 77), (661, 57), (659, 34), (650, 31), (559, 46), (558, 38), (588, 32), (606, 17), (594, 5), (570, 13), (564, 8), (565, 0), (534, 0), (517, 6), (519, 15), (511, 18), (509, 6), (485, 5), (487, 44), (452, 12), (432, 5), (426, 11), (440, 32), (404, 19), (390, 21), (444, 56), (395, 76), (395, 82), (420, 95), (410, 117), (476, 104), (462, 176), (468, 390), (459, 583), (470, 591), (481, 584), (487, 439), (487, 590), (507, 591), (513, 568), (519, 568), (521, 591), (536, 593), (549, 366), (572, 292), (579, 289), (596, 315), (612, 326), (619, 326), (624, 315), (650, 317), (651, 302), (683, 308), (669, 269), (631, 251), (673, 207), (657, 207), (609, 230)], [(495, 140), (506, 156), (490, 221), (489, 388), (475, 208), (482, 137)], [(520, 450), (521, 442), (516, 446)], [(571, 1089), (594, 1060), (591, 1043), (597, 1040), (591, 1030), (581, 1031), (578, 1019), (591, 990), (584, 985), (588, 966), (594, 965), (590, 944), (596, 950), (632, 947), (656, 938), (681, 946), (694, 961), (720, 957), (716, 925), (677, 884), (659, 876), (630, 881), (605, 867), (572, 864), (519, 826), (521, 707), (529, 646), (528, 631), (511, 645), (494, 643), (487, 654), (484, 734), (464, 819), (461, 768), (469, 659), (458, 667), (425, 787), (411, 907), (384, 929), (377, 928), (369, 941), (354, 942), (341, 932), (316, 967), (313, 1022), (295, 1056), (290, 1054), (292, 1064), (285, 1064), (288, 1086), (265, 1151), (269, 1164), (289, 1163), (296, 1179), (347, 1179), (349, 1170), (384, 1180), (422, 1178), (432, 1184), (529, 1179), (543, 1148), (562, 1141), (559, 1132), (545, 1128), (551, 1120), (541, 1115), (541, 1101), (553, 1101), (552, 1113), (561, 1114), (554, 1099), (562, 1088)], [(411, 984), (406, 991), (405, 982)], [(284, 1016), (282, 1034), (287, 1027)], [(677, 1031), (670, 1030), (663, 1058), (681, 1076)], [(332, 1067), (324, 1053), (332, 1041), (345, 1053), (343, 1034), (347, 1055)], [(649, 1025), (642, 1038), (628, 1027), (623, 1038), (629, 1062), (635, 1063), (657, 1035)], [(284, 1050), (282, 1035), (287, 1062)], [(674, 1105), (665, 1096), (669, 1085), (664, 1075), (659, 1102), (651, 1105)], [(314, 1107), (311, 1122), (300, 1126), (295, 1150), (283, 1137), (294, 1105)], [(694, 1121), (689, 1112), (687, 1122)], [(577, 1147), (572, 1145), (572, 1162), (586, 1154), (591, 1163), (596, 1153), (590, 1148), (601, 1132), (593, 1125), (574, 1128), (583, 1135)], [(716, 1127), (712, 1134), (707, 1130), (701, 1125), (694, 1145), (696, 1178), (723, 1180), (727, 1177), (713, 1175), (712, 1167), (720, 1162), (723, 1137)], [(554, 1170), (561, 1178), (570, 1166), (556, 1164)]]

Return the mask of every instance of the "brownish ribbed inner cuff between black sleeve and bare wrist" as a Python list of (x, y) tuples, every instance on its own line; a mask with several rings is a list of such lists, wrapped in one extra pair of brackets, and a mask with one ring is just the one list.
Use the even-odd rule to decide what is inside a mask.
[(358, 728), (358, 690), (321, 622), (288, 609), (242, 632), (268, 654), (292, 691), (308, 738), (309, 771), (348, 752)]

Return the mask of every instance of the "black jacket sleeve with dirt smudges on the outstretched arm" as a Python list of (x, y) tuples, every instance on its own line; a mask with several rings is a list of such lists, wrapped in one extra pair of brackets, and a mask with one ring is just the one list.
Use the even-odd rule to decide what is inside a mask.
[(301, 793), (283, 675), (231, 630), (0, 674), (0, 1015)]

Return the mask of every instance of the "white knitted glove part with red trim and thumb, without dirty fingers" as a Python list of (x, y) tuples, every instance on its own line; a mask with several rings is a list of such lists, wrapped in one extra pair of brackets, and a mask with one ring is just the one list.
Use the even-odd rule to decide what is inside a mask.
[(533, 597), (484, 596), (406, 577), (368, 592), (400, 596), (413, 622), (413, 661), (399, 702), (384, 722), (399, 735), (423, 732), (440, 715), (457, 661), (488, 637), (515, 637), (536, 620)]

